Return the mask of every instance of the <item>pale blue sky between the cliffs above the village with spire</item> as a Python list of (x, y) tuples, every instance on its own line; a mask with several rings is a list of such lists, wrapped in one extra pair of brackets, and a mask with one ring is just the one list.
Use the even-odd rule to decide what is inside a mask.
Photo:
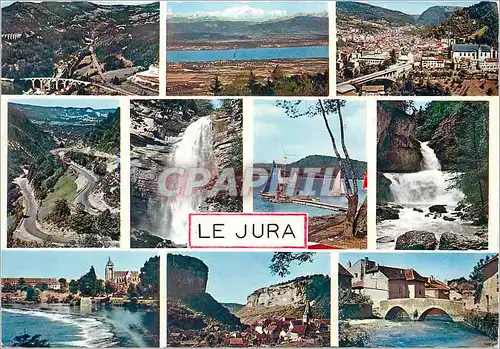
[[(290, 275), (271, 275), (273, 253), (263, 252), (191, 252), (182, 253), (201, 259), (208, 266), (207, 292), (223, 303), (246, 304), (253, 291), (272, 284), (311, 274), (330, 275), (330, 254), (316, 253), (312, 263), (294, 264)], [(167, 276), (168, 277), (168, 276)]]

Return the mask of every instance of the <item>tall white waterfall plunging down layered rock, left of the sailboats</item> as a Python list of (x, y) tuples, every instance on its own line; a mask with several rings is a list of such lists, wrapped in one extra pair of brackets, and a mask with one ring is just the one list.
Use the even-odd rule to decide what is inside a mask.
[[(177, 186), (183, 188), (187, 171), (192, 168), (211, 168), (213, 159), (212, 123), (209, 117), (202, 117), (191, 123), (182, 138), (175, 144), (169, 159), (169, 167), (184, 168), (186, 173), (178, 177)], [(176, 197), (166, 197), (162, 204), (162, 219), (159, 231), (176, 244), (186, 244), (188, 240), (188, 215), (198, 211), (205, 195), (201, 190), (193, 190), (192, 195), (181, 192)]]

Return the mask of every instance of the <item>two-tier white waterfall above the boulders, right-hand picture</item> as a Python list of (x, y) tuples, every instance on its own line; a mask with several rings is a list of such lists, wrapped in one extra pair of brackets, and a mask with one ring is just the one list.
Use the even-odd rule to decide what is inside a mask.
[(450, 188), (454, 174), (441, 171), (441, 164), (428, 142), (420, 143), (420, 151), (419, 172), (384, 174), (392, 182), (390, 191), (394, 201), (411, 205), (456, 205), (464, 194)]

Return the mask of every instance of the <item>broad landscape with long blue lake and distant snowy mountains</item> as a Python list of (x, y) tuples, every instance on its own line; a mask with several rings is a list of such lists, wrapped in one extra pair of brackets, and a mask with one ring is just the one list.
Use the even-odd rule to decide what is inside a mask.
[[(198, 13), (200, 5), (184, 12), (182, 5), (172, 4), (167, 18), (167, 94), (328, 95), (326, 7), (318, 3), (295, 13), (287, 12), (283, 3), (276, 12), (286, 15), (264, 19), (260, 6), (233, 5), (227, 14), (215, 15)], [(231, 18), (231, 11), (248, 15)]]

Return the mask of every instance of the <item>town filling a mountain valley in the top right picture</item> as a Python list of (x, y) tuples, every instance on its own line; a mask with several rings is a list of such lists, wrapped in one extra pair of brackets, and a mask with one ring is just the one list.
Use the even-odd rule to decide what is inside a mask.
[[(358, 4), (356, 12), (348, 5), (337, 8), (337, 94), (498, 95), (498, 41), (485, 32), (487, 21), (495, 20), (488, 15), (490, 5), (496, 6), (456, 7), (444, 22), (432, 23), (371, 5)], [(428, 11), (433, 9), (443, 10)], [(380, 11), (389, 23), (368, 19), (363, 10)], [(470, 28), (480, 27), (478, 13), (486, 25), (472, 35)]]

